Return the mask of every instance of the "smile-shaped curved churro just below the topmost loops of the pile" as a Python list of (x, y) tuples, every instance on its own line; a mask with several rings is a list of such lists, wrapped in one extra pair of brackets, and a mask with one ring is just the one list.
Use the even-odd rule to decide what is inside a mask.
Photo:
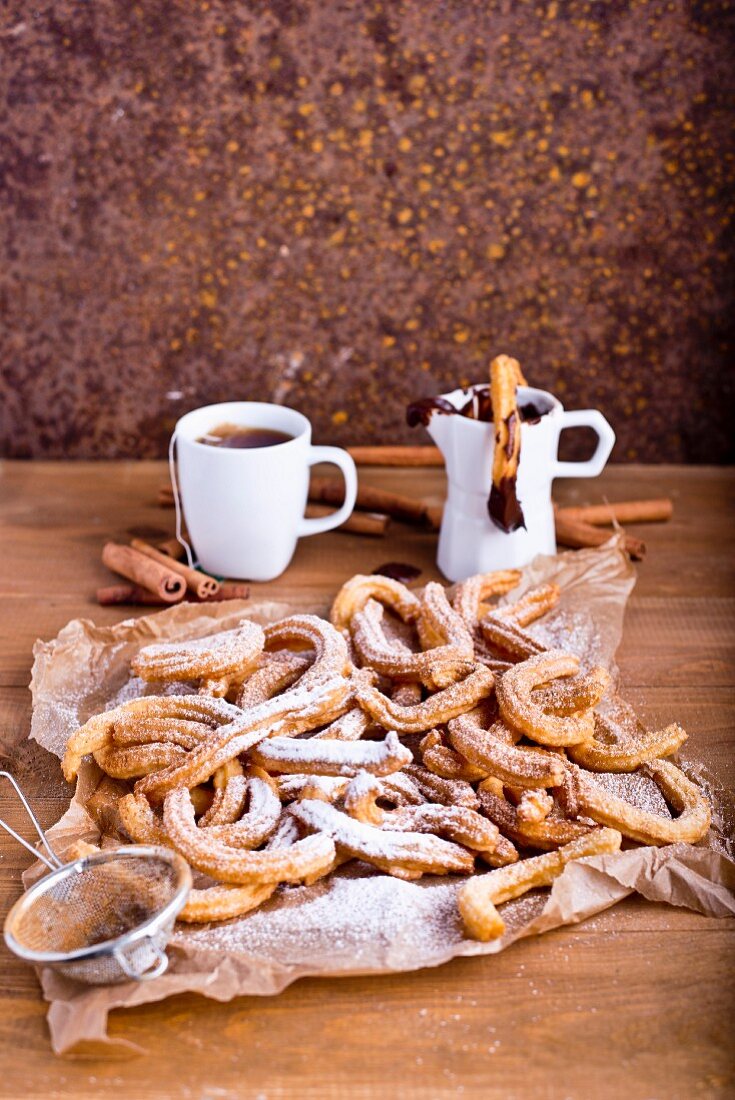
[(399, 706), (366, 680), (355, 679), (355, 698), (370, 716), (386, 729), (418, 734), (456, 718), (493, 690), (495, 678), (479, 664), (464, 680), (450, 684), (414, 706)]

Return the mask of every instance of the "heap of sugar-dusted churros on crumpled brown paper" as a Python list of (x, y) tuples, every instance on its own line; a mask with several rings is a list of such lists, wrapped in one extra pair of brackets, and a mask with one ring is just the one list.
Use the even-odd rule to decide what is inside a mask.
[[(493, 939), (497, 905), (570, 860), (624, 839), (696, 842), (710, 826), (699, 788), (665, 759), (685, 733), (628, 737), (596, 714), (607, 672), (581, 671), (529, 629), (558, 587), (498, 606), (519, 579), (414, 591), (358, 575), (330, 622), (245, 619), (147, 646), (132, 672), (157, 694), (87, 722), (64, 773), (91, 754), (130, 781), (121, 835), (175, 848), (200, 872), (184, 921), (240, 916), (282, 883), (360, 860), (402, 879), (461, 876), (467, 934)], [(676, 816), (611, 793), (605, 772), (645, 774)]]

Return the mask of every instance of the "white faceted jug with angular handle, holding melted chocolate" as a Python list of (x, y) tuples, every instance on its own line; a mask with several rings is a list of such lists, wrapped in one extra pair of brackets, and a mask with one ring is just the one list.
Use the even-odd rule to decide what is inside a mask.
[[(479, 388), (479, 387), (472, 387)], [(454, 408), (467, 404), (467, 389), (442, 394)], [(520, 425), (520, 461), (516, 488), (525, 528), (506, 532), (492, 522), (487, 497), (492, 482), (494, 425), (435, 411), (428, 431), (445, 457), (449, 482), (439, 535), (437, 564), (450, 581), (474, 573), (526, 565), (536, 554), (556, 553), (551, 504), (555, 477), (596, 477), (607, 462), (615, 432), (596, 409), (566, 413), (551, 394), (518, 387), (518, 405), (535, 404), (549, 411)], [(559, 436), (564, 428), (592, 428), (597, 447), (586, 462), (559, 462)]]

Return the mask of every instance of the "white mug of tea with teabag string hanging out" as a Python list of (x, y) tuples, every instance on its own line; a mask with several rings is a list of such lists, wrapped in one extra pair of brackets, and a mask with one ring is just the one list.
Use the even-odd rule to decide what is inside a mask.
[[(248, 449), (197, 442), (221, 424), (293, 438)], [(354, 507), (358, 473), (350, 455), (339, 447), (312, 447), (307, 418), (283, 405), (227, 402), (195, 409), (177, 422), (168, 453), (196, 556), (219, 576), (272, 581), (288, 565), (299, 538), (339, 527)], [(344, 503), (329, 516), (306, 519), (309, 466), (317, 462), (342, 471)]]

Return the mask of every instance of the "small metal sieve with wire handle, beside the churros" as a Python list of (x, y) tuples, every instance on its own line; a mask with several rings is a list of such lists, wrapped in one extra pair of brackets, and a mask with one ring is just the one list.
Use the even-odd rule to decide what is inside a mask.
[(7, 822), (0, 826), (51, 873), (35, 882), (6, 917), (11, 952), (35, 966), (92, 986), (149, 981), (168, 966), (166, 944), (191, 889), (176, 851), (132, 845), (63, 864), (13, 777), (10, 781), (46, 849), (39, 851)]

